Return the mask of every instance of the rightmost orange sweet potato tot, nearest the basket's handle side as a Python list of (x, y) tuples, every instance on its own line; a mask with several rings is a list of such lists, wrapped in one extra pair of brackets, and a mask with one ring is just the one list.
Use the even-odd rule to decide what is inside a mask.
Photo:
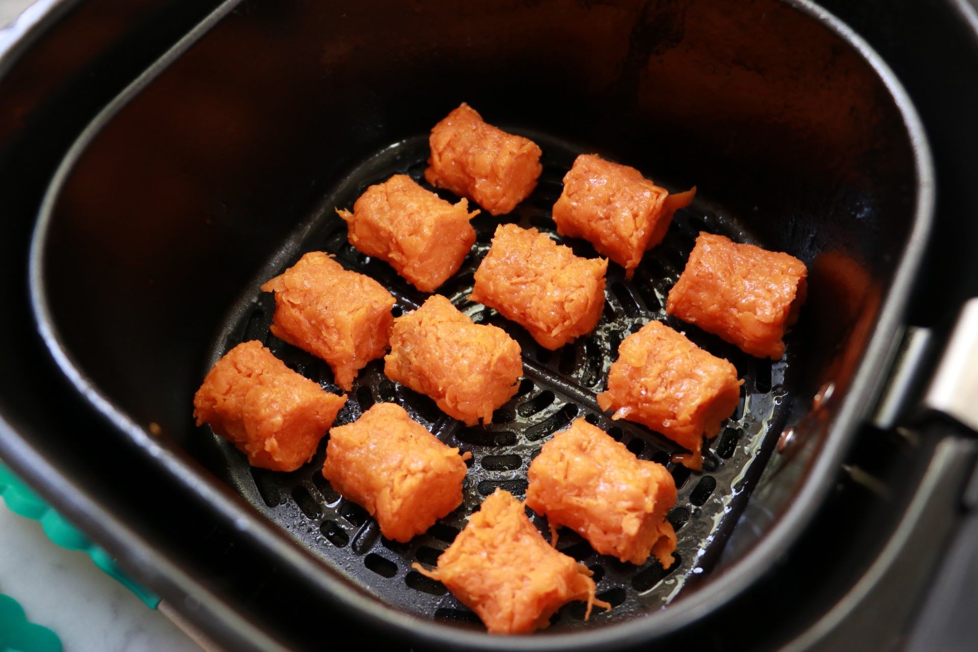
[(700, 233), (669, 290), (666, 312), (744, 353), (778, 360), (784, 333), (805, 302), (807, 276), (805, 263), (794, 256)]

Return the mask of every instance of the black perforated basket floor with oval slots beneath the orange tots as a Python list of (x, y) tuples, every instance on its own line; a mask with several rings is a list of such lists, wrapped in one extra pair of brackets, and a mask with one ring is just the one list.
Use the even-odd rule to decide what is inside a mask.
[[(621, 268), (614, 264), (608, 266), (607, 304), (600, 324), (590, 336), (558, 351), (538, 346), (520, 326), (468, 301), (472, 274), (500, 223), (533, 226), (551, 233), (578, 255), (598, 255), (583, 240), (556, 236), (550, 216), (551, 207), (560, 195), (561, 179), (580, 152), (540, 134), (528, 135), (544, 150), (544, 171), (536, 191), (510, 215), (494, 218), (482, 213), (473, 219), (478, 234), (476, 244), (459, 273), (439, 289), (439, 293), (451, 299), (476, 323), (501, 326), (519, 342), (525, 375), (517, 395), (496, 411), (491, 425), (466, 427), (441, 413), (430, 399), (385, 378), (383, 362), (379, 360), (361, 371), (336, 419), (337, 425), (348, 423), (377, 402), (397, 402), (439, 439), (471, 452), (465, 500), (458, 509), (411, 543), (390, 542), (380, 537), (377, 522), (363, 508), (336, 494), (320, 473), (328, 437), (309, 464), (292, 473), (275, 473), (250, 468), (244, 456), (232, 446), (209, 430), (204, 432), (226, 458), (231, 482), (244, 498), (318, 554), (334, 572), (406, 612), (473, 627), (468, 624), (478, 624), (474, 614), (441, 584), (411, 570), (412, 562), (433, 565), (465, 526), (467, 515), (496, 487), (522, 498), (527, 466), (541, 445), (573, 418), (584, 416), (624, 442), (637, 456), (666, 464), (679, 489), (676, 506), (669, 514), (679, 537), (676, 562), (670, 568), (661, 568), (651, 558), (642, 566), (621, 563), (597, 554), (576, 533), (561, 530), (558, 549), (594, 571), (599, 597), (613, 605), (608, 612), (595, 611), (588, 623), (595, 626), (659, 609), (674, 599), (690, 578), (709, 571), (778, 436), (785, 412), (781, 402), (788, 364), (784, 360), (772, 364), (751, 358), (719, 338), (665, 315), (666, 293), (679, 278), (700, 230), (725, 234), (739, 241), (751, 240), (732, 220), (707, 209), (700, 197), (689, 209), (677, 213), (666, 239), (645, 255), (632, 281), (625, 279)], [(421, 305), (426, 295), (400, 279), (385, 263), (364, 256), (347, 243), (345, 224), (335, 217), (333, 208), (352, 207), (368, 186), (392, 174), (406, 173), (422, 182), (427, 153), (424, 136), (391, 146), (357, 167), (333, 194), (325, 197), (310, 221), (274, 256), (261, 278), (255, 280), (252, 289), (232, 311), (215, 342), (207, 368), (236, 344), (259, 339), (291, 369), (339, 393), (325, 362), (269, 334), (273, 297), (259, 292), (257, 285), (289, 267), (301, 254), (322, 250), (335, 254), (348, 269), (384, 284), (397, 298), (395, 314)], [(601, 413), (595, 400), (596, 394), (604, 389), (607, 369), (622, 338), (650, 320), (663, 321), (685, 331), (699, 346), (730, 360), (740, 377), (745, 378), (736, 413), (720, 435), (704, 447), (701, 472), (690, 472), (672, 462), (672, 454), (681, 449), (668, 439), (634, 423), (612, 421)], [(788, 350), (791, 350), (790, 336)], [(545, 519), (535, 515), (532, 518), (542, 532), (547, 532)], [(555, 615), (553, 627), (581, 627), (585, 625), (583, 617), (584, 603), (571, 603)]]

